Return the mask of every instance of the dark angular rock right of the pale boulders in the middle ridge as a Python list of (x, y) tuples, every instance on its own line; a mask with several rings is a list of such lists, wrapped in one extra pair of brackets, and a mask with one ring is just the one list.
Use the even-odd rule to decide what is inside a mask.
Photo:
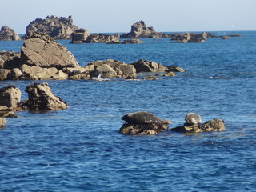
[(162, 66), (161, 63), (157, 62), (150, 62), (146, 60), (138, 60), (138, 62), (133, 62), (130, 65), (133, 65), (136, 69), (136, 73), (140, 72), (158, 72), (162, 73), (165, 72), (167, 69), (166, 66)]

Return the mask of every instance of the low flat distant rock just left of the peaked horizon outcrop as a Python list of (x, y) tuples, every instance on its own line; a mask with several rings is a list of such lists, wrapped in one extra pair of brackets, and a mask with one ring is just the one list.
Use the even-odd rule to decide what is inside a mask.
[(118, 40), (118, 38), (115, 38), (114, 35), (108, 35), (108, 34), (90, 34), (87, 39), (86, 43), (118, 43), (121, 42)]

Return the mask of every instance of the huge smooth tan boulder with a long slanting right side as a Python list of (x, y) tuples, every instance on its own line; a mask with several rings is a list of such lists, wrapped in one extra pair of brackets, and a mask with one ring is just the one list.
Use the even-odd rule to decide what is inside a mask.
[(30, 34), (22, 46), (21, 64), (45, 68), (79, 67), (74, 55), (45, 34)]

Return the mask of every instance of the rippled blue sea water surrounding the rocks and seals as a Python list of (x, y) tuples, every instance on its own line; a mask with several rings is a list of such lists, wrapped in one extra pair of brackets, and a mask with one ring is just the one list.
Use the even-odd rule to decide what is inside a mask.
[[(256, 191), (256, 31), (238, 33), (242, 38), (191, 44), (59, 41), (81, 66), (142, 58), (186, 72), (158, 81), (47, 81), (70, 107), (7, 119), (0, 130), (0, 191)], [(0, 42), (0, 50), (19, 51), (22, 43)], [(0, 87), (14, 84), (26, 99), (30, 83)], [(222, 118), (226, 131), (119, 134), (122, 115), (138, 110), (169, 119), (170, 128), (190, 112), (203, 122)]]

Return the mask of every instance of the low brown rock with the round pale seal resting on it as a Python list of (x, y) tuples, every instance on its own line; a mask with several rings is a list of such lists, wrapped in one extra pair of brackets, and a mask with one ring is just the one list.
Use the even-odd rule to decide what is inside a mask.
[(171, 130), (186, 134), (226, 130), (224, 121), (220, 118), (214, 118), (209, 122), (201, 124), (201, 116), (199, 114), (190, 113), (186, 115), (185, 121), (183, 126), (178, 126)]

